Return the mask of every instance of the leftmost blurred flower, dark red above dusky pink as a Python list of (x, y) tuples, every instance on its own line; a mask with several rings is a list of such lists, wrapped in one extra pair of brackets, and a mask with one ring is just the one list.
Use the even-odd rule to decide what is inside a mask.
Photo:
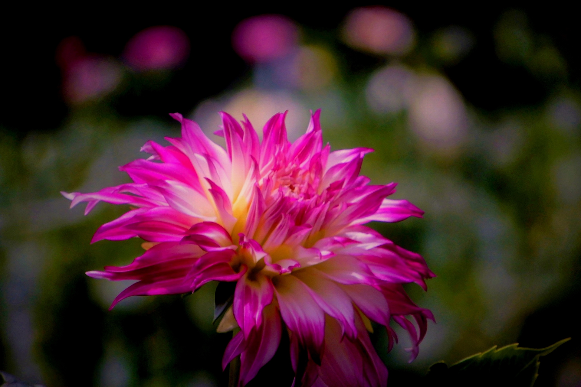
[(78, 37), (60, 42), (56, 61), (62, 70), (64, 98), (72, 104), (102, 98), (117, 87), (123, 75), (116, 60), (87, 53)]

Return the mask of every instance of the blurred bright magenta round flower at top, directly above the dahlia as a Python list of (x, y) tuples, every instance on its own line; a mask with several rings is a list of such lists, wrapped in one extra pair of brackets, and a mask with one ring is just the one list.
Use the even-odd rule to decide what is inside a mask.
[(299, 28), (285, 16), (261, 15), (243, 20), (232, 32), (232, 46), (248, 62), (285, 56), (299, 39)]

